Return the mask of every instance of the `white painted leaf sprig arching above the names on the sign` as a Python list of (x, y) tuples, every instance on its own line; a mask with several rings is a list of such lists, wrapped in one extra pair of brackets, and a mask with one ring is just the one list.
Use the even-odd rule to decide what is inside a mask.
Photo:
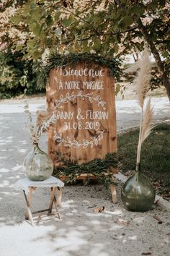
[(102, 98), (100, 95), (97, 95), (96, 97), (93, 97), (93, 93), (86, 93), (83, 94), (82, 91), (80, 91), (78, 94), (75, 94), (74, 92), (70, 93), (66, 93), (65, 98), (63, 97), (63, 95), (61, 95), (61, 98), (59, 98), (58, 100), (55, 100), (54, 102), (54, 107), (55, 108), (62, 108), (62, 103), (68, 103), (69, 101), (73, 101), (76, 98), (81, 98), (81, 100), (85, 100), (87, 99), (89, 102), (93, 103), (94, 101), (97, 101), (97, 105), (98, 107), (102, 107), (104, 110), (106, 109), (104, 107), (104, 105), (106, 104), (105, 101), (102, 101)]

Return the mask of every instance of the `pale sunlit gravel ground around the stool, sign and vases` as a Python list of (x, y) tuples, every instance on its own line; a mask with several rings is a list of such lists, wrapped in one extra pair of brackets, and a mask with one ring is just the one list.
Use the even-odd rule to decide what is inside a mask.
[[(121, 101), (122, 102), (122, 101)], [(135, 126), (139, 118), (135, 101), (117, 102), (118, 129)], [(169, 101), (156, 99), (155, 120), (169, 119)], [(30, 100), (31, 110), (45, 107), (45, 99)], [(122, 105), (121, 105), (122, 104)], [(128, 112), (127, 112), (128, 111)], [(161, 113), (161, 114), (160, 114)], [(160, 114), (160, 116), (159, 116)], [(54, 218), (30, 226), (24, 221), (24, 197), (14, 183), (24, 176), (22, 163), (29, 152), (30, 138), (23, 129), (26, 118), (22, 102), (0, 102), (0, 252), (3, 256), (162, 256), (170, 254), (170, 219), (166, 210), (153, 205), (146, 213), (125, 210), (113, 204), (102, 186), (69, 186), (63, 189), (61, 220)], [(41, 148), (47, 143), (42, 137)], [(39, 189), (33, 208), (47, 208), (48, 190)], [(102, 213), (94, 208), (104, 206)], [(156, 218), (162, 223), (158, 223)]]

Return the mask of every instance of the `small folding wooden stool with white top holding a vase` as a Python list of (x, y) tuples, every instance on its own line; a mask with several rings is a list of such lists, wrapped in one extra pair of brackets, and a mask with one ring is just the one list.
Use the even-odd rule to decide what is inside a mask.
[[(58, 214), (58, 218), (60, 218), (60, 214), (58, 213), (58, 206), (61, 205), (61, 199), (62, 199), (62, 187), (64, 186), (64, 183), (61, 182), (60, 179), (57, 179), (53, 176), (50, 176), (50, 178), (45, 179), (45, 181), (42, 182), (32, 182), (30, 179), (19, 179), (17, 183), (14, 184), (14, 188), (16, 190), (23, 190), (24, 193), (24, 199), (26, 201), (27, 209), (25, 213), (25, 219), (30, 220), (30, 223), (32, 226), (35, 225), (33, 216), (36, 213), (43, 213), (48, 212), (48, 215), (54, 214), (52, 213), (53, 204), (55, 205), (56, 213)], [(51, 198), (50, 198), (50, 204), (48, 209), (44, 210), (37, 210), (35, 212), (31, 211), (31, 205), (32, 205), (32, 192), (40, 187), (49, 187), (51, 192)], [(55, 192), (58, 192), (58, 199), (56, 200)]]

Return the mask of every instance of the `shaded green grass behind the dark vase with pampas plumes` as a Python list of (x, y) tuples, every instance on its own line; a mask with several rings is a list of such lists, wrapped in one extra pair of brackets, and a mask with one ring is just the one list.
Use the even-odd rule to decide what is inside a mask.
[[(139, 129), (118, 136), (118, 165), (123, 173), (135, 170)], [(158, 124), (143, 142), (141, 172), (149, 177), (159, 194), (170, 191), (170, 124)]]

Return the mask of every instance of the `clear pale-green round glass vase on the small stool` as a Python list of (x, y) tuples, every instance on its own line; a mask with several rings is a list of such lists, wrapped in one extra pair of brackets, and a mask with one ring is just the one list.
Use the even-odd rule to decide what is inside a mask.
[(50, 156), (40, 150), (37, 144), (24, 159), (24, 174), (28, 179), (40, 182), (48, 179), (53, 174), (53, 162)]

